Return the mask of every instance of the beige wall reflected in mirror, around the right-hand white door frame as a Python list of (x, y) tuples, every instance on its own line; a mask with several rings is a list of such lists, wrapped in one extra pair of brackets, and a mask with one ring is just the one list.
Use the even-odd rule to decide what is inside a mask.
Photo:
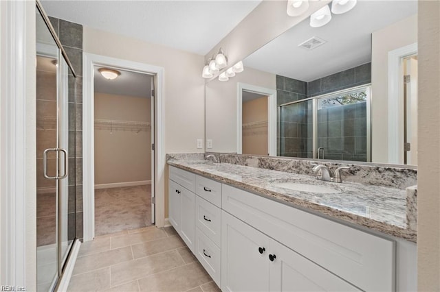
[(371, 37), (371, 161), (388, 163), (388, 52), (417, 42), (417, 14)]

